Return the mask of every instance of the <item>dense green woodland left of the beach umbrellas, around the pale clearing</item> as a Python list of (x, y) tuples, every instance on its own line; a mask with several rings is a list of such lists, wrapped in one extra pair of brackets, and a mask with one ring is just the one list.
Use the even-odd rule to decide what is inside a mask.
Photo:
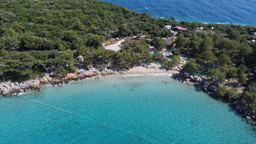
[[(163, 28), (168, 19), (90, 0), (4, 0), (0, 20), (2, 80), (14, 81), (43, 76), (49, 66), (54, 66), (55, 74), (69, 73), (76, 69), (73, 62), (78, 55), (85, 57), (84, 65), (132, 67), (132, 62), (143, 57), (137, 54), (138, 43), (118, 53), (102, 49), (100, 44), (111, 37), (171, 34)], [(148, 55), (147, 50), (138, 52)]]

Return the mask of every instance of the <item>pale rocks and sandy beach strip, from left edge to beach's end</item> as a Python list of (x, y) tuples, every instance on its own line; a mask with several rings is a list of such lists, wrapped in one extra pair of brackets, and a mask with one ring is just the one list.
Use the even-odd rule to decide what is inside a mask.
[(50, 74), (41, 77), (40, 79), (31, 79), (25, 82), (14, 83), (14, 82), (2, 82), (0, 83), (0, 95), (3, 96), (19, 96), (30, 91), (40, 91), (41, 85), (58, 85), (63, 86), (64, 83), (69, 83), (72, 80), (84, 80), (91, 77), (99, 79), (100, 76), (128, 76), (128, 75), (140, 75), (140, 74), (178, 74), (177, 70), (165, 70), (162, 68), (146, 68), (146, 67), (133, 67), (130, 70), (116, 71), (105, 68), (104, 70), (97, 70), (92, 68), (91, 70), (84, 71), (83, 74), (78, 74), (78, 71), (66, 74), (63, 77), (50, 77)]

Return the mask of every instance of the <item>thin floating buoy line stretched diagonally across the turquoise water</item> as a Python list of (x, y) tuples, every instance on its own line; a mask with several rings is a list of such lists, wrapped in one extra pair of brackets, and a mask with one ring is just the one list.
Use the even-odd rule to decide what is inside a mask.
[[(160, 142), (158, 142), (158, 141), (156, 141), (156, 140), (153, 140), (153, 139), (150, 139), (150, 138), (145, 137), (145, 136), (144, 136), (145, 134), (144, 134), (143, 136), (141, 136), (141, 135), (139, 135), (139, 134), (133, 133), (132, 131), (128, 131), (128, 130), (124, 130), (123, 128), (116, 127), (115, 125), (109, 125), (109, 124), (107, 124), (107, 123), (105, 123), (105, 122), (96, 121), (95, 119), (89, 118), (89, 117), (87, 117), (87, 116), (79, 115), (78, 113), (69, 112), (69, 111), (67, 111), (67, 110), (60, 109), (60, 108), (58, 108), (58, 107), (52, 106), (52, 105), (50, 105), (50, 104), (43, 103), (43, 102), (41, 102), (41, 101), (32, 100), (31, 98), (26, 98), (26, 97), (22, 97), (22, 98), (24, 98), (24, 99), (26, 99), (26, 100), (34, 101), (35, 103), (40, 103), (40, 104), (42, 104), (42, 105), (44, 105), (44, 106), (53, 107), (54, 109), (61, 110), (61, 111), (66, 112), (66, 113), (70, 113), (70, 114), (73, 114), (73, 115), (76, 115), (76, 116), (80, 116), (80, 117), (82, 117), (82, 118), (89, 119), (89, 120), (94, 121), (94, 122), (97, 122), (97, 123), (99, 123), (99, 124), (104, 124), (104, 125), (107, 125), (107, 126), (109, 126), (109, 127), (116, 128), (117, 130), (126, 131), (127, 133), (134, 134), (135, 136), (142, 137), (143, 139), (150, 140), (151, 142), (154, 142), (154, 143), (160, 143)], [(160, 143), (160, 144), (163, 144), (163, 143)]]

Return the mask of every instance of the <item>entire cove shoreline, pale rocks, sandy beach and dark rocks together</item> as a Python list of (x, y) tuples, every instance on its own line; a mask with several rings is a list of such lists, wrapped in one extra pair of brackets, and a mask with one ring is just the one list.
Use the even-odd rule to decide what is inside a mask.
[(66, 74), (64, 77), (50, 77), (49, 74), (42, 77), (41, 79), (36, 80), (28, 80), (26, 82), (21, 83), (13, 83), (13, 82), (2, 82), (0, 85), (0, 95), (3, 96), (19, 96), (21, 94), (25, 94), (31, 91), (40, 92), (40, 86), (42, 85), (52, 85), (52, 86), (63, 86), (64, 83), (69, 83), (70, 81), (77, 80), (85, 80), (87, 78), (99, 79), (101, 76), (140, 76), (140, 75), (154, 75), (154, 76), (171, 76), (175, 77), (181, 82), (187, 82), (192, 85), (198, 85), (200, 88), (209, 94), (210, 97), (213, 98), (221, 98), (225, 100), (226, 103), (230, 103), (231, 106), (237, 109), (237, 113), (240, 113), (244, 116), (244, 118), (248, 119), (249, 124), (256, 125), (256, 114), (255, 110), (250, 110), (246, 107), (246, 104), (243, 103), (242, 100), (234, 97), (218, 97), (215, 92), (209, 91), (207, 86), (209, 85), (201, 85), (198, 82), (195, 82), (191, 77), (185, 77), (181, 71), (178, 70), (165, 70), (163, 68), (147, 68), (142, 66), (136, 66), (130, 68), (129, 70), (116, 71), (105, 68), (104, 70), (97, 70), (96, 68), (92, 68), (91, 70), (84, 71), (83, 74), (78, 74), (78, 71), (74, 73)]

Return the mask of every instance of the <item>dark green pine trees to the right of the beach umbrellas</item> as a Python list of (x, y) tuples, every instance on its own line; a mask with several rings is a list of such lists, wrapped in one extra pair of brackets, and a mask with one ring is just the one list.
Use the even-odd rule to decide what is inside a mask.
[[(191, 25), (191, 23), (187, 24)], [(183, 70), (193, 73), (200, 67), (202, 73), (206, 73), (217, 83), (219, 95), (224, 96), (225, 92), (229, 91), (234, 97), (244, 98), (248, 106), (255, 109), (256, 85), (252, 83), (256, 80), (256, 43), (251, 42), (255, 37), (249, 35), (252, 31), (256, 31), (255, 26), (219, 26), (203, 23), (200, 26), (205, 26), (206, 29), (215, 26), (216, 30), (188, 31), (186, 34), (181, 32), (175, 41), (181, 53), (195, 58), (189, 59)], [(249, 85), (244, 97), (220, 85), (231, 77), (237, 78), (243, 86)]]

